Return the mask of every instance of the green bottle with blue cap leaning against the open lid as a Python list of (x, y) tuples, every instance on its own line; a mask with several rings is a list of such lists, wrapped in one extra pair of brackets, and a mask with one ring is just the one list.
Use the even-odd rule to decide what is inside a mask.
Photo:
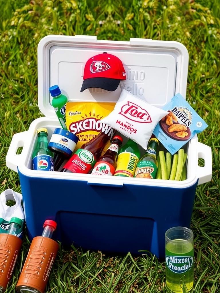
[(62, 95), (59, 86), (51, 86), (49, 88), (50, 94), (53, 97), (52, 106), (55, 113), (60, 121), (62, 129), (67, 130), (66, 126), (66, 103), (68, 99), (66, 96)]

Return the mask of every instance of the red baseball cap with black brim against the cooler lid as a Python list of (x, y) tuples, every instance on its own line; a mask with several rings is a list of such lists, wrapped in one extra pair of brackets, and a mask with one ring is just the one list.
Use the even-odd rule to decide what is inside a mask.
[(126, 79), (126, 72), (118, 57), (103, 52), (89, 58), (86, 62), (83, 79), (81, 93), (86, 88), (102, 88), (106, 91), (115, 91), (120, 80)]

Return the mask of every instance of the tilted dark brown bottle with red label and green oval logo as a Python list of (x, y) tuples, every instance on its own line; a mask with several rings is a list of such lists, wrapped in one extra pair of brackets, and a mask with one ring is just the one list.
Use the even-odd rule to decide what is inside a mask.
[(106, 132), (99, 132), (96, 137), (83, 144), (80, 149), (77, 149), (63, 166), (61, 172), (89, 173), (100, 158), (107, 142), (114, 135), (115, 130), (109, 127), (109, 130)]

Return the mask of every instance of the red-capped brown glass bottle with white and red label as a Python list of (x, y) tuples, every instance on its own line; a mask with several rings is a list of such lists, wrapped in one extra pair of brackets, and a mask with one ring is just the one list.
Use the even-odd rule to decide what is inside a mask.
[(115, 168), (117, 166), (119, 147), (121, 147), (122, 142), (123, 139), (121, 136), (116, 135), (113, 137), (110, 147), (96, 162), (91, 174), (110, 176), (114, 174)]

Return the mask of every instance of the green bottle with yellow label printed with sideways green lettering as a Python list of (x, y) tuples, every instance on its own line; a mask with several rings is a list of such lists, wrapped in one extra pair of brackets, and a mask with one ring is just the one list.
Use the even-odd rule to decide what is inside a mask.
[(132, 139), (128, 139), (128, 142), (119, 151), (114, 176), (133, 177), (139, 159), (138, 144)]

